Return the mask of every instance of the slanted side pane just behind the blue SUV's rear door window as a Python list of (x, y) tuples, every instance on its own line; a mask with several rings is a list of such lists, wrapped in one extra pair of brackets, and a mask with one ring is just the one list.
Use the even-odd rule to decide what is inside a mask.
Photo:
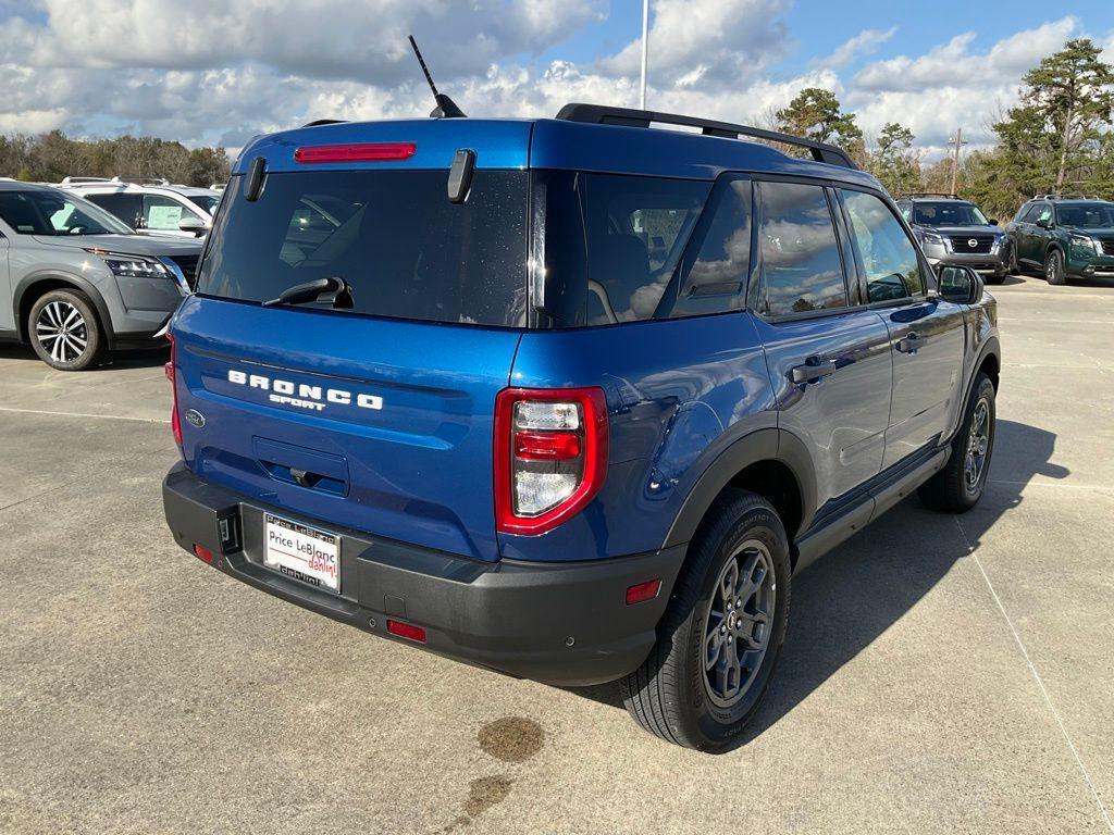
[[(745, 306), (751, 268), (751, 181), (722, 180), (712, 193), (695, 257), (686, 256), (671, 316), (726, 313)], [(697, 235), (701, 229), (697, 228)], [(692, 259), (691, 265), (688, 264)]]

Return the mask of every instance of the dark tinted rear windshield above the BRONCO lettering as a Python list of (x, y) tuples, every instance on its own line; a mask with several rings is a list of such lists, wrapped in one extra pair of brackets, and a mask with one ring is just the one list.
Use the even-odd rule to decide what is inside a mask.
[(478, 170), (450, 203), (446, 170), (266, 176), (250, 203), (233, 177), (197, 292), (248, 302), (341, 277), (353, 312), (428, 322), (526, 324), (526, 171)]

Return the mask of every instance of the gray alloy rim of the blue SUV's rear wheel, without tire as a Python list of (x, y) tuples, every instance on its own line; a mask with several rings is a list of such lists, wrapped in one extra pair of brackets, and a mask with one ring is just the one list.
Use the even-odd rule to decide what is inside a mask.
[(704, 616), (704, 688), (719, 707), (750, 690), (770, 648), (778, 586), (773, 559), (747, 540), (727, 559)]

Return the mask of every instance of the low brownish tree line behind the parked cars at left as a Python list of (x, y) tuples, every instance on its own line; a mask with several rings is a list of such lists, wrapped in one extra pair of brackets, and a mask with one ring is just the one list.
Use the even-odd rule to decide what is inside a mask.
[(187, 148), (147, 136), (74, 139), (60, 130), (0, 136), (0, 177), (59, 183), (63, 177), (162, 177), (188, 186), (228, 179), (224, 148)]

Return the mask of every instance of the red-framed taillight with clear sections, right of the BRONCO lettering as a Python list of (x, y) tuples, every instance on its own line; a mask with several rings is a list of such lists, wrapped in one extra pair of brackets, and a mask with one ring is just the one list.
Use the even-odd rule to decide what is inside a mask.
[(607, 474), (603, 389), (506, 389), (495, 403), (496, 524), (545, 533), (584, 508)]

